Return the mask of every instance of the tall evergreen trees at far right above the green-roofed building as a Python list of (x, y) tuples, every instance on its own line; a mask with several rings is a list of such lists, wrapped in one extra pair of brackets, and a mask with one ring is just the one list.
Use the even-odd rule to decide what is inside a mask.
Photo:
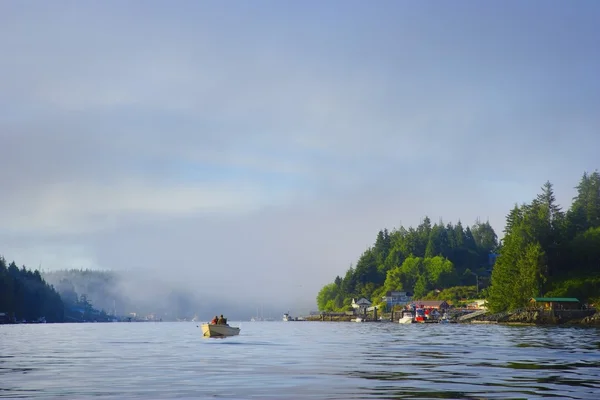
[(492, 273), (492, 311), (523, 307), (530, 297), (597, 298), (600, 286), (600, 174), (583, 174), (567, 213), (550, 182), (506, 217), (506, 236)]

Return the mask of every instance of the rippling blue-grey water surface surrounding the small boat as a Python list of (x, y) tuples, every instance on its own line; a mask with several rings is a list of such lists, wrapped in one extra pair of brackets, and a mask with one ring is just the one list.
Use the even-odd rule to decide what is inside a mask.
[(0, 326), (0, 398), (598, 399), (600, 330), (232, 322)]

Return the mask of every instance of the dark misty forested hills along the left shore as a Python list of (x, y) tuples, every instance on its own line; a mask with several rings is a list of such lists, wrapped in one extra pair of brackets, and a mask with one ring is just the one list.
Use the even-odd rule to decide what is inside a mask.
[[(218, 308), (194, 293), (135, 274), (90, 269), (30, 271), (0, 257), (0, 313), (8, 322), (190, 319)], [(214, 313), (212, 310), (210, 313)], [(0, 323), (3, 322), (0, 318)]]

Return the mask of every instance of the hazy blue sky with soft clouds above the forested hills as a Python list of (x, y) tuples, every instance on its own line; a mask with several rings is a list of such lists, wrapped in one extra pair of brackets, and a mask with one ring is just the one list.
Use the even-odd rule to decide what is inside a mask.
[[(600, 3), (2, 1), (0, 254), (301, 314), (600, 168)], [(133, 290), (133, 289), (132, 289)], [(207, 316), (208, 317), (208, 316)]]

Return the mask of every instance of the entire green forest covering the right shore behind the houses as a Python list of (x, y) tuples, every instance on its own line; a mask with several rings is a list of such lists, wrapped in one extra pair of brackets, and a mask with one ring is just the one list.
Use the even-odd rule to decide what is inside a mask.
[(531, 297), (600, 300), (600, 174), (584, 173), (564, 212), (546, 182), (530, 203), (515, 205), (498, 241), (489, 222), (463, 227), (423, 218), (416, 228), (379, 231), (343, 277), (317, 294), (321, 311), (351, 309), (352, 298), (384, 306), (387, 291), (458, 304), (485, 298), (493, 312)]

